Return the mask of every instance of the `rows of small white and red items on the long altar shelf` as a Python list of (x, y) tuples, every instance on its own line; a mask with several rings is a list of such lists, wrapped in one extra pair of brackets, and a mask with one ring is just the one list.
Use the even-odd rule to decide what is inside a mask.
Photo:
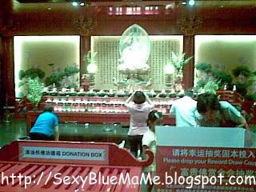
[[(126, 97), (86, 97), (86, 96), (44, 96), (41, 107), (54, 106), (54, 111), (76, 113), (128, 113)], [(169, 114), (170, 106), (176, 98), (150, 98), (154, 110)]]

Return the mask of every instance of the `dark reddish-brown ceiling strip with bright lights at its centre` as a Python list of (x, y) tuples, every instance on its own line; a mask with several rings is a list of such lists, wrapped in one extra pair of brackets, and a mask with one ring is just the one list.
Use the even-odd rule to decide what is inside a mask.
[[(194, 11), (205, 18), (224, 18), (243, 20), (256, 19), (256, 0), (242, 1), (202, 1), (195, 0), (194, 6), (182, 5), (182, 2), (188, 1), (132, 1), (132, 0), (80, 0), (86, 2), (87, 6), (72, 6), (72, 0), (0, 0), (9, 2), (10, 10), (14, 14), (60, 14), (60, 13), (76, 13), (78, 10), (96, 10), (99, 15), (155, 15), (168, 16), (180, 13), (182, 10), (188, 12)], [(0, 7), (0, 11), (6, 14), (5, 6)], [(122, 13), (117, 13), (119, 7), (122, 7)], [(153, 10), (150, 10), (151, 8)], [(140, 11), (128, 11), (129, 9), (139, 9)], [(110, 11), (111, 9), (111, 11)], [(112, 11), (113, 10), (113, 11)]]

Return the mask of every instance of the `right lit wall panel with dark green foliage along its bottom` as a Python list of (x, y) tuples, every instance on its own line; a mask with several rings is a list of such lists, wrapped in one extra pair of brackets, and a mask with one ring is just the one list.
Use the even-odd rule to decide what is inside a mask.
[[(194, 85), (217, 81), (218, 89), (256, 98), (256, 36), (196, 35)], [(225, 87), (225, 88), (224, 88)]]

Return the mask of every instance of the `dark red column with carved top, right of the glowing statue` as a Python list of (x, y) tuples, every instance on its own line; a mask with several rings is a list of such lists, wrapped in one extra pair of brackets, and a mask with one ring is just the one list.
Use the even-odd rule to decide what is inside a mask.
[[(184, 34), (183, 37), (183, 52), (186, 53), (186, 58), (194, 55), (194, 35), (198, 28), (202, 26), (202, 19), (193, 15), (182, 17), (178, 20), (178, 26)], [(194, 59), (184, 66), (183, 69), (183, 84), (184, 88), (188, 89), (194, 86)]]

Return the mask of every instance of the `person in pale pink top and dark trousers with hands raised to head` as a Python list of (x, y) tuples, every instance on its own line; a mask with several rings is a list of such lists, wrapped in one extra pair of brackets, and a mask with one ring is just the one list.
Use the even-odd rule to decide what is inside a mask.
[(142, 91), (135, 91), (130, 95), (130, 98), (126, 100), (126, 106), (130, 113), (130, 128), (128, 131), (130, 152), (137, 158), (138, 146), (142, 153), (143, 134), (149, 130), (146, 126), (146, 119), (150, 110), (153, 109), (153, 105)]

